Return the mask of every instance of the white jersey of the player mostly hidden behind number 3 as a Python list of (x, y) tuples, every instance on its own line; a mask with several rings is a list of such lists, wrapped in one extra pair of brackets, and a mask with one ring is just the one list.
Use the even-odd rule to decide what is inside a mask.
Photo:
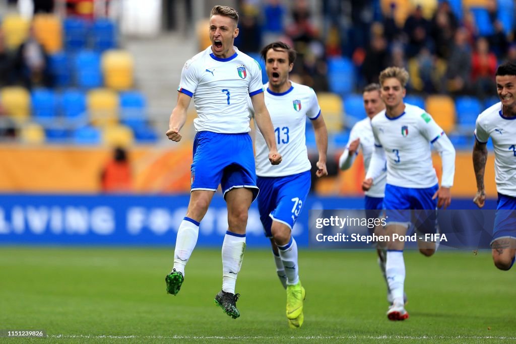
[[(348, 148), (349, 144), (356, 139), (360, 139), (359, 148), (356, 154), (362, 150), (364, 169), (367, 171), (369, 169), (369, 163), (371, 162), (371, 156), (375, 149), (375, 137), (373, 135), (373, 127), (371, 126), (371, 119), (369, 117), (357, 122), (353, 126), (351, 133), (349, 134), (349, 142), (346, 148)], [(387, 170), (384, 169), (383, 172), (375, 178), (373, 186), (366, 191), (365, 194), (369, 197), (383, 197), (385, 193), (386, 177)]]

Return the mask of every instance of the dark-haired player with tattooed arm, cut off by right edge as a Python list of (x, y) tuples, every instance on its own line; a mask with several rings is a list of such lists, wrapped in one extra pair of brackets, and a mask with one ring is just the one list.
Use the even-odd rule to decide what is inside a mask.
[(496, 70), (496, 89), (501, 102), (489, 107), (477, 118), (473, 168), (477, 194), (473, 202), (481, 208), (486, 201), (484, 172), (486, 143), (491, 137), (494, 146), (494, 173), (498, 201), (491, 241), (494, 265), (509, 270), (516, 255), (516, 64), (504, 63)]

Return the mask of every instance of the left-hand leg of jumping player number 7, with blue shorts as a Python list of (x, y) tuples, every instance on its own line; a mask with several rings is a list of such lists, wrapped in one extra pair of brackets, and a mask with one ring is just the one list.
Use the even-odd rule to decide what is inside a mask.
[(217, 147), (209, 144), (216, 133), (197, 133), (193, 142), (191, 193), (186, 216), (181, 221), (175, 241), (174, 266), (165, 277), (167, 293), (176, 295), (184, 281), (185, 266), (199, 236), (199, 224), (220, 184), (224, 168)]

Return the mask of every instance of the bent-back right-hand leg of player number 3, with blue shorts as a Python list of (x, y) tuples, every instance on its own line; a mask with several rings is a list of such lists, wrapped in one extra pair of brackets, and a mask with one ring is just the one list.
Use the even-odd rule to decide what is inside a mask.
[[(430, 257), (438, 248), (432, 234), (439, 233), (437, 224), (437, 198), (433, 195), (439, 190), (439, 185), (425, 189), (411, 189), (411, 208), (414, 210), (415, 226), (417, 234), (423, 239), (417, 240), (417, 247), (421, 254)], [(426, 239), (428, 237), (428, 239)]]

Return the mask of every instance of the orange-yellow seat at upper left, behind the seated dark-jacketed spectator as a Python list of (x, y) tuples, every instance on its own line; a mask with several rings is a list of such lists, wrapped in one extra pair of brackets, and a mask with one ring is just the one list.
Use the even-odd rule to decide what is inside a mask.
[(57, 53), (63, 45), (62, 24), (57, 15), (36, 14), (33, 20), (36, 39), (49, 54)]

